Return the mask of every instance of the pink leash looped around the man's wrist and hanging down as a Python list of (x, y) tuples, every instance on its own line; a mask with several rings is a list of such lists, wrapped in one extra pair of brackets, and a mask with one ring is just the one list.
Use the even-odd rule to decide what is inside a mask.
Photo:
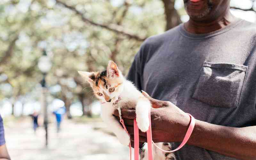
[[(148, 141), (148, 160), (153, 160), (153, 152), (152, 152), (152, 143), (161, 151), (163, 152), (175, 152), (177, 150), (179, 150), (180, 148), (182, 148), (188, 141), (188, 139), (190, 138), (193, 129), (195, 127), (195, 118), (190, 115), (189, 113), (187, 113), (190, 116), (190, 124), (188, 127), (188, 131), (185, 134), (185, 137), (183, 139), (183, 141), (181, 142), (180, 146), (172, 151), (165, 151), (161, 148), (159, 148), (153, 141), (152, 141), (152, 131), (151, 131), (151, 117), (150, 117), (150, 112), (149, 112), (149, 128), (147, 131), (147, 141)], [(123, 125), (124, 130), (128, 133), (128, 131), (126, 130), (126, 127), (124, 125), (124, 120), (120, 119), (120, 123)], [(129, 144), (129, 148), (130, 148), (130, 160), (132, 160), (132, 147), (131, 147), (131, 143)], [(136, 120), (134, 119), (134, 160), (139, 160), (139, 128), (137, 125)]]

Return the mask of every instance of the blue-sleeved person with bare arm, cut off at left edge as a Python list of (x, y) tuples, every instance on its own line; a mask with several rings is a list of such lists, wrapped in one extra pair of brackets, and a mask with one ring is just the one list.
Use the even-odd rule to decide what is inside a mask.
[(0, 115), (0, 160), (10, 160), (10, 156), (8, 154), (5, 139), (4, 139), (4, 124), (3, 119)]

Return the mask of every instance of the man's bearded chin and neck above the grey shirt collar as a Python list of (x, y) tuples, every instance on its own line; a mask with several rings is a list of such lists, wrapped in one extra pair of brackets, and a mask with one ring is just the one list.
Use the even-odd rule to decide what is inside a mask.
[(190, 17), (185, 29), (190, 33), (204, 34), (225, 28), (237, 19), (230, 13), (229, 3), (230, 0), (202, 0), (198, 3), (184, 0)]

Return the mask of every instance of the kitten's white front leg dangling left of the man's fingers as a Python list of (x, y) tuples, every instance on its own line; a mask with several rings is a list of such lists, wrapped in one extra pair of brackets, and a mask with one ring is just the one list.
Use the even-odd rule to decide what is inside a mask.
[(130, 143), (130, 136), (121, 126), (121, 124), (112, 115), (115, 108), (111, 105), (101, 105), (102, 120), (108, 125), (108, 128), (114, 132), (121, 144), (128, 146)]

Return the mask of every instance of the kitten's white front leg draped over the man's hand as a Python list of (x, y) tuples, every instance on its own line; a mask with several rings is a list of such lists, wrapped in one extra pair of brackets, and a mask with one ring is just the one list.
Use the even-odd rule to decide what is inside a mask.
[(139, 129), (142, 132), (146, 132), (149, 127), (149, 111), (151, 108), (151, 103), (145, 97), (140, 97), (136, 104), (136, 121)]

